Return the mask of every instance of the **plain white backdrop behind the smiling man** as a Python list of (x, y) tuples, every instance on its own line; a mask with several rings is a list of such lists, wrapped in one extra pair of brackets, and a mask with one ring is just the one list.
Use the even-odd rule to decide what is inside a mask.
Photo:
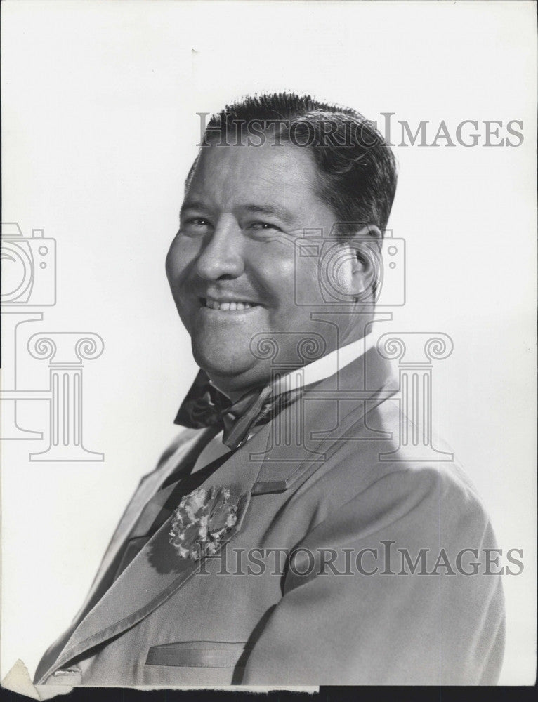
[[(199, 140), (195, 113), (289, 88), (414, 128), (523, 120), (520, 147), (396, 147), (389, 226), (407, 241), (408, 295), (381, 331), (454, 340), (434, 369), (435, 426), (500, 548), (523, 548), (523, 574), (503, 578), (501, 682), (532, 683), (534, 4), (12, 0), (2, 11), (3, 220), (58, 242), (58, 303), (25, 325), (19, 383), (48, 384), (46, 361), (25, 352), (30, 334), (100, 334), (105, 352), (84, 366), (84, 444), (105, 461), (32, 463), (46, 440), (2, 442), (1, 675), (17, 658), (33, 674), (176, 433), (196, 368), (164, 256)], [(26, 404), (26, 428), (46, 430), (46, 403)]]

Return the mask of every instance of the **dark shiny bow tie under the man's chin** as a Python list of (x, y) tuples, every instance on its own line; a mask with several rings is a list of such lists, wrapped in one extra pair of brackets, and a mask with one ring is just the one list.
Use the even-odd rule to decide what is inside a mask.
[(268, 423), (301, 392), (302, 388), (298, 388), (274, 396), (273, 387), (266, 385), (249, 390), (232, 403), (211, 385), (205, 371), (200, 370), (181, 403), (174, 424), (190, 429), (220, 428), (223, 430), (223, 444), (233, 451), (247, 441), (255, 426)]

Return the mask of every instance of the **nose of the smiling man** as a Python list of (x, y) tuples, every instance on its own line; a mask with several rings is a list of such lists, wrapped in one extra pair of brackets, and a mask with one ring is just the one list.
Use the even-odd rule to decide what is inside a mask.
[(198, 256), (199, 276), (205, 280), (239, 277), (244, 271), (242, 239), (235, 218), (221, 218)]

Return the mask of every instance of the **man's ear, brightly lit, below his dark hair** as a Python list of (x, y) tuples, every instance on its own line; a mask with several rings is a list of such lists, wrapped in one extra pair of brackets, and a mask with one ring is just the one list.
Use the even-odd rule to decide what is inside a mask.
[(381, 246), (383, 234), (376, 225), (365, 225), (355, 232), (349, 245), (353, 258), (353, 294), (357, 302), (375, 299), (381, 284)]

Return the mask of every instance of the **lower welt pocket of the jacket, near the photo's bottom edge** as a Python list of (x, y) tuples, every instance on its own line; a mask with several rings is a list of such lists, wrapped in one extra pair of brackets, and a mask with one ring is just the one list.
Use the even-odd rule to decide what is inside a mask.
[(152, 646), (145, 664), (174, 668), (234, 668), (248, 650), (246, 642), (181, 641)]

